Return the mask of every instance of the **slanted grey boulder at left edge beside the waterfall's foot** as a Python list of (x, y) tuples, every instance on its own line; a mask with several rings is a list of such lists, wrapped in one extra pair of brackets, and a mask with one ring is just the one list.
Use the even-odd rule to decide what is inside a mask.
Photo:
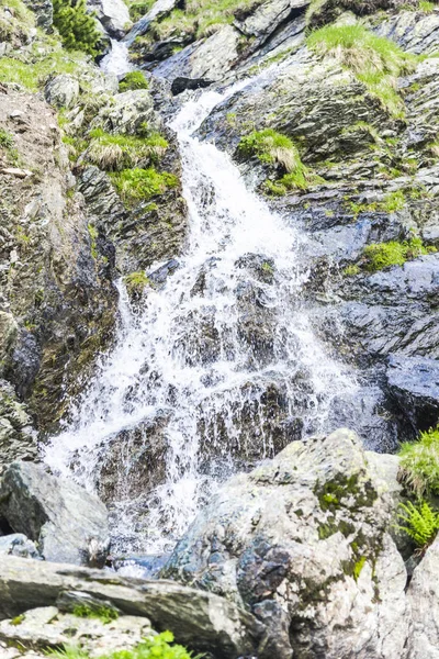
[(105, 506), (42, 466), (13, 462), (0, 481), (0, 517), (38, 544), (49, 561), (102, 565), (109, 526)]

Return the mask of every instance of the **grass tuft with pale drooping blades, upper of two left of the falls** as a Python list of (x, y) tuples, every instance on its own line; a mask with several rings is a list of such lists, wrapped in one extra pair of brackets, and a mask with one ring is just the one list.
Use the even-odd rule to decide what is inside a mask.
[(105, 171), (119, 171), (142, 165), (158, 164), (168, 148), (168, 142), (158, 133), (148, 137), (112, 135), (101, 129), (90, 131), (91, 142), (86, 159)]

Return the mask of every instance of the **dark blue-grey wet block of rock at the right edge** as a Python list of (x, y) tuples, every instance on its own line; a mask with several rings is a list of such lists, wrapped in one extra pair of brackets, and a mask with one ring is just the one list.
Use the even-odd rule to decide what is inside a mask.
[(386, 377), (391, 395), (413, 427), (434, 427), (439, 415), (439, 362), (391, 355)]

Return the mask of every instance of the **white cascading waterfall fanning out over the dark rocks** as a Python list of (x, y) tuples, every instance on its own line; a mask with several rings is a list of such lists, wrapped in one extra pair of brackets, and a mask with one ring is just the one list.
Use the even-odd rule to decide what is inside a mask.
[(225, 477), (339, 425), (335, 405), (361, 398), (301, 303), (306, 239), (248, 191), (226, 154), (192, 136), (245, 85), (189, 100), (175, 119), (188, 247), (140, 311), (119, 284), (115, 347), (46, 449), (54, 470), (110, 488), (115, 551), (168, 550)]

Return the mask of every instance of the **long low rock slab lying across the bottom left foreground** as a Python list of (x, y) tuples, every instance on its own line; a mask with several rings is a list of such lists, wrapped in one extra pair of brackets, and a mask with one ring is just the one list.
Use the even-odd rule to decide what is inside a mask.
[(55, 607), (65, 591), (109, 600), (124, 615), (138, 616), (138, 623), (146, 617), (159, 629), (172, 629), (178, 643), (212, 652), (215, 659), (255, 655), (263, 633), (250, 613), (233, 603), (170, 581), (139, 582), (14, 557), (0, 561), (0, 618), (15, 617), (30, 608)]

